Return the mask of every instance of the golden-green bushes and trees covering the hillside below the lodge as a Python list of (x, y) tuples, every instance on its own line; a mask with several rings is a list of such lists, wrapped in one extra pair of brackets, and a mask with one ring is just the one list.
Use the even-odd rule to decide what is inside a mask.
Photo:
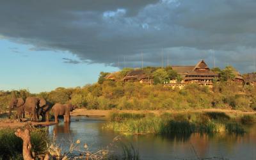
[[(151, 68), (152, 69), (152, 68)], [(156, 68), (154, 68), (155, 70)], [(156, 69), (159, 70), (161, 68)], [(117, 75), (119, 79), (129, 72), (124, 68)], [(166, 68), (161, 69), (166, 72)], [(256, 109), (256, 88), (239, 86), (232, 81), (234, 75), (230, 68), (220, 70), (221, 81), (214, 87), (188, 84), (185, 88), (169, 88), (161, 84), (148, 86), (140, 83), (124, 83), (104, 79), (106, 73), (99, 76), (99, 83), (87, 84), (80, 88), (56, 88), (51, 92), (31, 94), (28, 90), (0, 92), (0, 108), (6, 109), (9, 100), (15, 97), (25, 99), (28, 96), (44, 97), (52, 103), (72, 102), (79, 108), (87, 109)], [(157, 71), (158, 72), (158, 71)], [(168, 75), (175, 75), (172, 69)]]

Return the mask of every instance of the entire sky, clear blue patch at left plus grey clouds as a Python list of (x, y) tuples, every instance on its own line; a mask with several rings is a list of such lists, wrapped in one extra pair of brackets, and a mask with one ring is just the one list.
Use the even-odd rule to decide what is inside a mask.
[[(0, 0), (0, 90), (95, 83), (123, 67), (255, 71), (254, 0)], [(213, 56), (214, 55), (214, 56)], [(118, 65), (119, 61), (119, 65)]]

